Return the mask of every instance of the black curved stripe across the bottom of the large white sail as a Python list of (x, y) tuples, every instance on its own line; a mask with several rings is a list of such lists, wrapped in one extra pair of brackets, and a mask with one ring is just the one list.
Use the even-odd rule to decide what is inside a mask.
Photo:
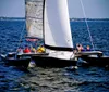
[(56, 50), (56, 51), (73, 51), (74, 48), (65, 48), (65, 47), (52, 47), (45, 44), (45, 48), (50, 49), (50, 50)]

